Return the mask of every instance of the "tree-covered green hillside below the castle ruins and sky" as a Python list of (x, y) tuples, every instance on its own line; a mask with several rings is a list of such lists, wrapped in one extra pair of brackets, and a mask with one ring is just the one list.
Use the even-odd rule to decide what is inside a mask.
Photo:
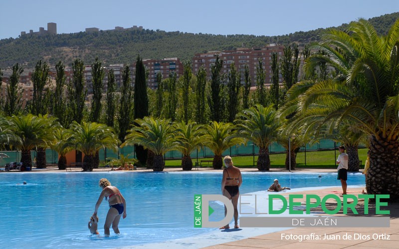
[[(386, 34), (399, 12), (369, 19), (380, 34)], [(336, 28), (345, 29), (348, 24)], [(38, 59), (54, 65), (58, 60), (71, 64), (75, 58), (90, 63), (98, 56), (105, 64), (131, 63), (140, 54), (143, 58), (160, 59), (179, 57), (191, 60), (198, 52), (226, 50), (236, 47), (257, 47), (268, 43), (300, 44), (319, 40), (325, 29), (298, 31), (279, 36), (214, 35), (162, 30), (99, 31), (97, 33), (71, 33), (57, 35), (23, 35), (0, 40), (0, 67), (19, 62), (32, 68)]]

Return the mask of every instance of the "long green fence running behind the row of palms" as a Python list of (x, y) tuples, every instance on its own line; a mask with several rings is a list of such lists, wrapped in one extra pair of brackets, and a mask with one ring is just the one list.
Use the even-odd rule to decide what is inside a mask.
[[(332, 140), (321, 140), (319, 143), (315, 143), (312, 146), (306, 144), (306, 146), (302, 146), (300, 151), (308, 151), (308, 150), (328, 150), (334, 149), (334, 146), (339, 146), (339, 144), (335, 144)], [(246, 145), (236, 145), (233, 146), (223, 152), (223, 156), (231, 155), (256, 155), (259, 152), (259, 147), (255, 146), (252, 142), (248, 142)], [(270, 153), (283, 153), (285, 152), (285, 148), (278, 143), (272, 143), (269, 146)], [(0, 166), (5, 165), (6, 163), (10, 162), (19, 162), (21, 159), (21, 152), (20, 151), (0, 151), (0, 153), (6, 154), (8, 157), (0, 157)], [(35, 151), (30, 152), (32, 161), (33, 158), (36, 156)], [(0, 154), (1, 155), (1, 154)], [(134, 146), (126, 146), (123, 148), (119, 148), (117, 152), (114, 152), (110, 149), (99, 151), (99, 157), (101, 161), (108, 161), (114, 158), (120, 158), (120, 155), (127, 156), (128, 158), (136, 158)], [(212, 151), (202, 146), (200, 149), (195, 150), (191, 153), (192, 158), (204, 158), (204, 157), (213, 157)], [(182, 153), (176, 150), (169, 151), (165, 155), (165, 159), (178, 159), (182, 158)], [(46, 159), (48, 164), (56, 164), (58, 162), (58, 153), (51, 149), (46, 149)]]

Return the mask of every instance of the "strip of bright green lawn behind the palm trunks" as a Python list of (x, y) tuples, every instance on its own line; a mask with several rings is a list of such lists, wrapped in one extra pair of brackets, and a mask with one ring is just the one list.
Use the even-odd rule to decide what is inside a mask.
[[(334, 150), (329, 151), (312, 151), (306, 152), (306, 165), (305, 165), (305, 152), (299, 152), (296, 157), (297, 167), (298, 168), (336, 168), (335, 160), (339, 155), (339, 151)], [(359, 149), (359, 159), (362, 160), (362, 165), (364, 166), (367, 158), (367, 149)], [(198, 161), (201, 160), (212, 160), (213, 158), (198, 158)], [(255, 164), (253, 164), (253, 156), (234, 156), (233, 162), (234, 166), (237, 167), (256, 167), (256, 160), (258, 156), (255, 155)], [(193, 158), (193, 164), (197, 161), (197, 158)], [(272, 154), (270, 155), (271, 167), (272, 168), (280, 168), (285, 167), (285, 153), (284, 154)], [(166, 167), (181, 167), (182, 160), (166, 160)], [(206, 165), (207, 163), (205, 163)], [(255, 165), (255, 166), (253, 166)], [(209, 163), (209, 167), (212, 166), (212, 163)]]

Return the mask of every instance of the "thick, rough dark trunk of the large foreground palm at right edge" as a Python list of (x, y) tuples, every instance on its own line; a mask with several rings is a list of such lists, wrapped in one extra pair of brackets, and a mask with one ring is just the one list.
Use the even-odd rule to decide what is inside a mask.
[(370, 168), (366, 178), (368, 194), (389, 194), (399, 200), (399, 141), (380, 136), (370, 138)]

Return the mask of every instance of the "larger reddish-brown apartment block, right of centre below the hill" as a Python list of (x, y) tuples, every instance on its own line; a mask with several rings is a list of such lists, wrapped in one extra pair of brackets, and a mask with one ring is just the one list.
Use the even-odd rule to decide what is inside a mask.
[[(223, 67), (221, 73), (228, 73), (230, 65), (234, 63), (237, 71), (241, 72), (241, 83), (244, 83), (244, 67), (248, 65), (249, 75), (252, 79), (252, 85), (256, 82), (256, 67), (258, 61), (262, 60), (263, 69), (266, 73), (265, 84), (271, 83), (271, 56), (273, 53), (277, 53), (279, 59), (283, 55), (284, 46), (269, 44), (259, 48), (237, 48), (235, 50), (224, 50), (224, 51), (209, 51), (206, 53), (197, 53), (193, 58), (193, 73), (197, 73), (200, 67), (204, 67), (207, 73), (207, 77), (210, 78), (210, 68), (216, 61), (216, 56), (219, 56), (223, 60)], [(280, 75), (280, 82), (282, 77)]]

